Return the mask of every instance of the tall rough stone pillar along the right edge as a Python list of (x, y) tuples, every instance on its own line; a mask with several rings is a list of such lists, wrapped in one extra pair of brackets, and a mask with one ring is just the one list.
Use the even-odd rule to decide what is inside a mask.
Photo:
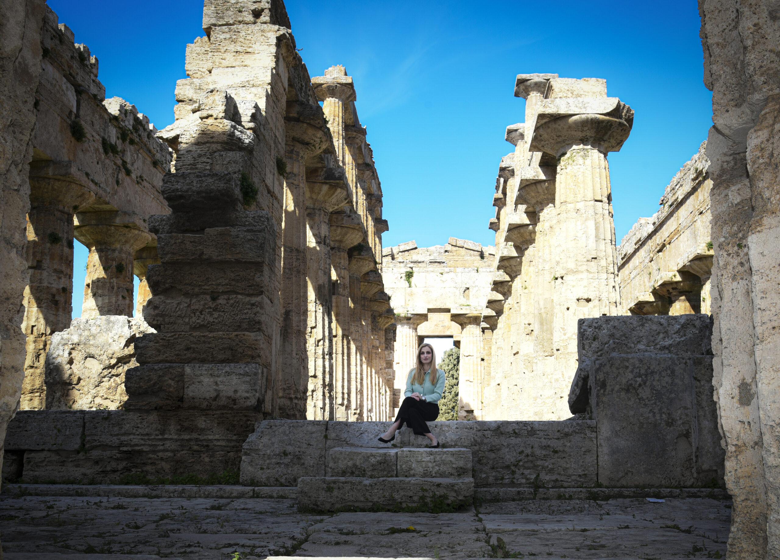
[(712, 90), (715, 400), (734, 499), (729, 558), (780, 557), (780, 11), (700, 0)]

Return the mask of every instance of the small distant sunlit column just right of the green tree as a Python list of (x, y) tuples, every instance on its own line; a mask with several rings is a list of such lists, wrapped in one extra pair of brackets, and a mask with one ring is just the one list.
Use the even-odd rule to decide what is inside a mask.
[(482, 379), (482, 315), (452, 315), (461, 326), (458, 419), (480, 420), (480, 381)]

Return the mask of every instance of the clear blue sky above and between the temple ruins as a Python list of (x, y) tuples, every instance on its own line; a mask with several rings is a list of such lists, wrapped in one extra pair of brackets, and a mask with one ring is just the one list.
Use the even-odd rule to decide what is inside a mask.
[[(202, 2), (49, 0), (100, 60), (107, 97), (163, 128), (186, 44), (203, 35)], [(288, 0), (311, 76), (342, 64), (385, 194), (385, 246), (452, 237), (491, 245), (488, 230), (507, 125), (523, 122), (519, 73), (605, 78), (633, 107), (633, 132), (609, 157), (618, 241), (658, 210), (668, 182), (711, 125), (696, 2), (336, 2)], [(83, 281), (83, 249), (76, 286)], [(74, 294), (74, 316), (81, 293)], [(76, 305), (78, 312), (76, 312)]]

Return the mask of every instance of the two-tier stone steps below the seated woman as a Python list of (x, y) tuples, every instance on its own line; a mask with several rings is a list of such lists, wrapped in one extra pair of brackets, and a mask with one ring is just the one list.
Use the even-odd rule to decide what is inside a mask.
[(324, 477), (298, 479), (301, 512), (451, 512), (471, 505), (471, 450), (336, 447)]

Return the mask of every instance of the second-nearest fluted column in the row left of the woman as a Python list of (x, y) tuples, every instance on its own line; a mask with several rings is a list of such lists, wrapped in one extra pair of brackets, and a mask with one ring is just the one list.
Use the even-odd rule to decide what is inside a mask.
[(307, 220), (307, 354), (309, 388), (307, 419), (337, 418), (334, 369), (332, 251), (330, 215), (348, 202), (341, 167), (309, 167), (306, 183)]

